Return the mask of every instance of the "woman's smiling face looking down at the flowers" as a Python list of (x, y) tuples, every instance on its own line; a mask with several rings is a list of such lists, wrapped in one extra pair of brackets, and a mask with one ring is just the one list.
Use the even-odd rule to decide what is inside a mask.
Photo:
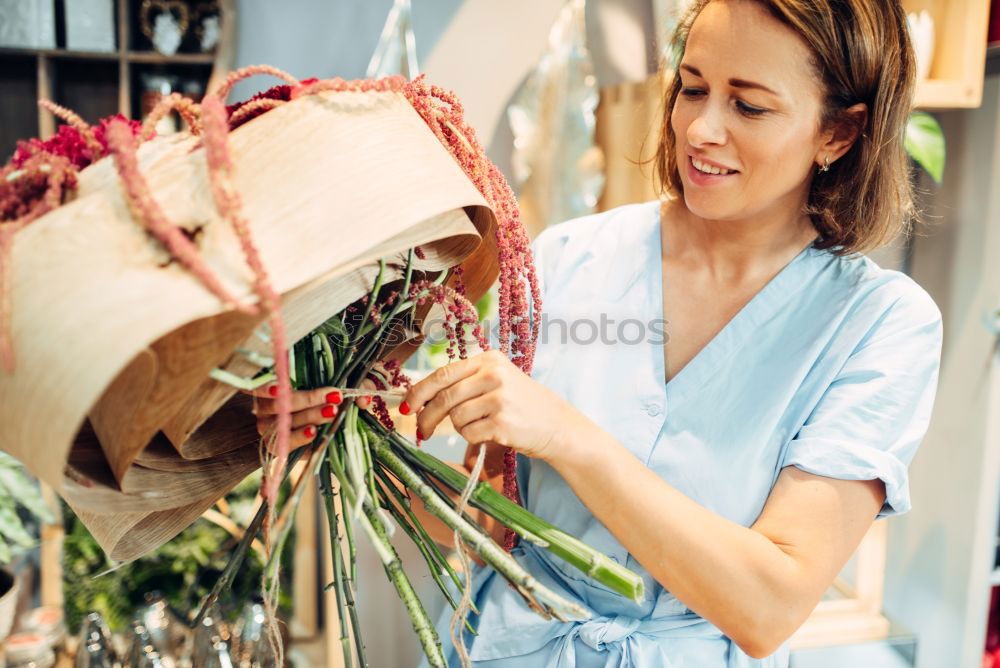
[[(801, 209), (823, 145), (809, 57), (798, 35), (755, 2), (716, 0), (695, 19), (670, 117), (693, 214), (740, 220)], [(695, 166), (706, 163), (730, 173)]]

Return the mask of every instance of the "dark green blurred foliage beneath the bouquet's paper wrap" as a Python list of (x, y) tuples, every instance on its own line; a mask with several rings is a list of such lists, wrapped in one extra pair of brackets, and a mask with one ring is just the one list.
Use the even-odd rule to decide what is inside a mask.
[[(250, 521), (259, 486), (258, 471), (226, 497), (237, 524), (246, 526)], [(154, 590), (160, 591), (181, 615), (192, 613), (208, 595), (238, 542), (222, 527), (201, 518), (156, 551), (115, 568), (116, 564), (65, 504), (63, 517), (63, 586), (66, 624), (71, 633), (79, 630), (89, 612), (101, 613), (112, 631), (128, 628), (133, 610), (143, 605), (147, 592)], [(291, 613), (291, 596), (287, 592), (291, 589), (293, 553), (294, 549), (286, 549), (282, 555), (279, 606), (286, 617)], [(220, 600), (223, 610), (235, 613), (242, 602), (260, 591), (263, 562), (256, 551), (251, 550), (251, 555), (232, 589)]]

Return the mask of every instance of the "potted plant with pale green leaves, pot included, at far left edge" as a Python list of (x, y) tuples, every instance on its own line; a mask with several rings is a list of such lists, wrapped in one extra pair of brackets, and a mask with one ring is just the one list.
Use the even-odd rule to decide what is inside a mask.
[(54, 521), (38, 483), (19, 461), (0, 452), (0, 642), (10, 633), (17, 607), (17, 581), (9, 564), (38, 543), (24, 526), (25, 512), (42, 522)]

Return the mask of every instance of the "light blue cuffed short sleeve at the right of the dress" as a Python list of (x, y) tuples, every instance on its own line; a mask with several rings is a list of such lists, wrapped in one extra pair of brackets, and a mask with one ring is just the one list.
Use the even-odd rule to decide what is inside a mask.
[(908, 469), (930, 424), (941, 362), (942, 318), (923, 288), (895, 299), (789, 442), (781, 466), (843, 480), (881, 479), (876, 519), (910, 510)]

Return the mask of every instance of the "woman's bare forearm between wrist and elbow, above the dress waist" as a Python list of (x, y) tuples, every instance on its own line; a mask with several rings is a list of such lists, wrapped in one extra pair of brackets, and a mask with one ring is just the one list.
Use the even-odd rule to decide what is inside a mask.
[(549, 460), (650, 575), (751, 654), (797, 610), (797, 562), (766, 536), (699, 505), (590, 420)]

